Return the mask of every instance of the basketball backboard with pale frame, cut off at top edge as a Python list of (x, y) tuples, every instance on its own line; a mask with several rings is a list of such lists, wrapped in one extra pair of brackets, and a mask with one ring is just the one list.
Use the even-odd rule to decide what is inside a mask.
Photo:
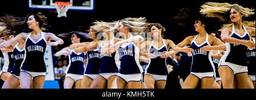
[(55, 2), (72, 2), (69, 10), (93, 10), (94, 0), (28, 0), (30, 9), (49, 9), (56, 10)]

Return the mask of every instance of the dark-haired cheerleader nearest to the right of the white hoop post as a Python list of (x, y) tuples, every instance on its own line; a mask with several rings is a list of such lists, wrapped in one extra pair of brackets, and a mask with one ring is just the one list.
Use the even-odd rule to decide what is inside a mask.
[[(80, 43), (82, 36), (77, 32), (71, 32), (71, 42)], [(69, 47), (56, 52), (55, 56), (65, 55), (69, 58), (69, 64), (65, 70), (64, 89), (71, 89), (75, 82), (75, 89), (81, 88), (82, 77), (84, 76), (84, 61), (86, 53), (77, 53)]]

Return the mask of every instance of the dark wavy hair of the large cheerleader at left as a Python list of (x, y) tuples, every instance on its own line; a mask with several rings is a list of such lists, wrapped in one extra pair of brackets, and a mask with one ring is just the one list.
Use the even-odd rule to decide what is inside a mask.
[[(47, 20), (46, 20), (46, 16), (44, 16), (41, 12), (38, 12), (38, 13), (33, 13), (33, 14), (28, 14), (26, 16), (26, 19), (24, 20), (24, 24), (27, 25), (27, 21), (28, 21), (28, 18), (33, 15), (36, 22), (39, 22), (39, 27), (42, 31), (46, 30), (46, 26), (47, 26)], [(27, 26), (28, 28), (28, 26)]]

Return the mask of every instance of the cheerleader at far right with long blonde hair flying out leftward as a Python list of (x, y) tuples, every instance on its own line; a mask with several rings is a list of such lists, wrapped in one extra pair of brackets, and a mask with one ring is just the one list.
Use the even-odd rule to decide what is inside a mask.
[[(250, 36), (255, 36), (255, 28), (243, 26), (242, 18), (253, 15), (253, 9), (237, 4), (215, 2), (207, 2), (201, 7), (202, 14), (233, 23), (222, 28), (221, 31), (221, 40), (226, 43), (226, 51), (221, 57), (218, 72), (224, 89), (233, 88), (234, 78), (237, 80), (238, 88), (246, 88), (248, 77), (246, 51), (247, 47), (255, 48), (255, 43), (250, 41)], [(223, 14), (229, 14), (229, 18), (225, 18)]]

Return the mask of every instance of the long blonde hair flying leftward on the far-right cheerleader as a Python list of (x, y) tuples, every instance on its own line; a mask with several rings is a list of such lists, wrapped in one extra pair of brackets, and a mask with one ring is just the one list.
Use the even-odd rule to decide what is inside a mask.
[(231, 9), (238, 10), (243, 16), (247, 17), (254, 14), (254, 9), (249, 9), (242, 7), (240, 5), (225, 3), (217, 3), (217, 2), (207, 2), (204, 5), (200, 6), (201, 14), (206, 14), (208, 17), (217, 17), (224, 22), (230, 22), (230, 19), (225, 14), (229, 14)]

